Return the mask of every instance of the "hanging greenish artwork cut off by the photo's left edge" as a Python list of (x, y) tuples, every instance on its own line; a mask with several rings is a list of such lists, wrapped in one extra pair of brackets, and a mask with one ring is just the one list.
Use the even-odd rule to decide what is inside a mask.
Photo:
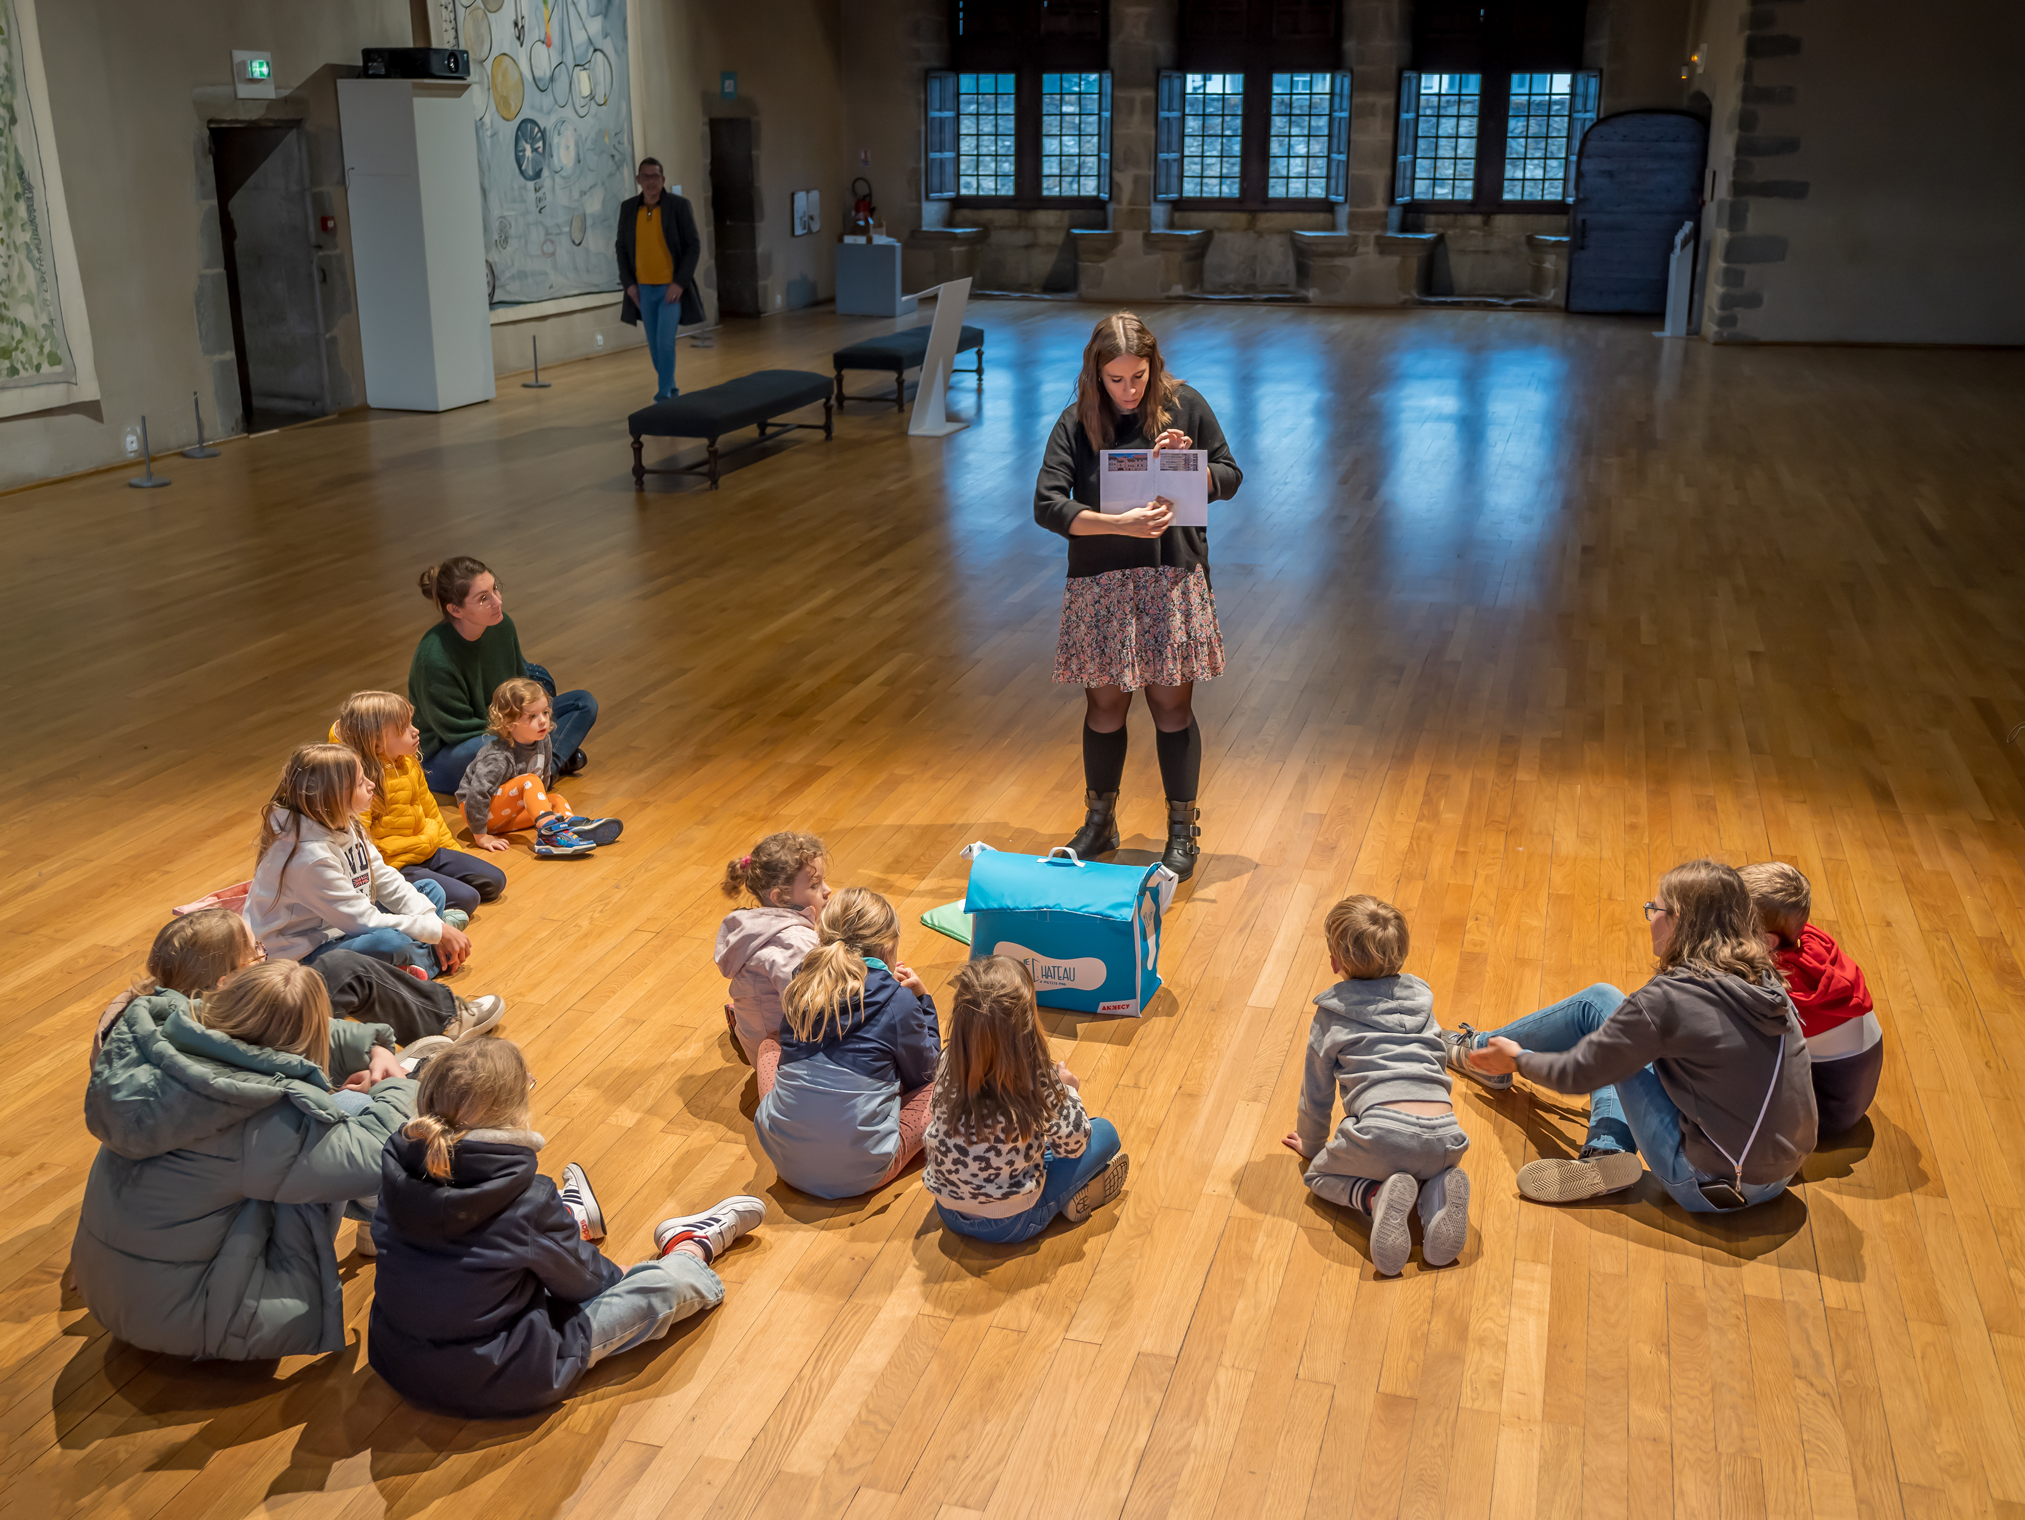
[(34, 0), (0, 0), (0, 417), (97, 395)]

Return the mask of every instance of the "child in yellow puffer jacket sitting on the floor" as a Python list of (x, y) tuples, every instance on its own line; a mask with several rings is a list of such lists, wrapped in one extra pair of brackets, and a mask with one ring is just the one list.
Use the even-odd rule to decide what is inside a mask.
[(358, 755), (373, 781), (373, 816), (367, 832), (389, 866), (407, 880), (423, 876), (443, 889), (446, 907), (470, 917), (480, 903), (506, 891), (506, 872), (488, 860), (454, 850), (415, 751), (421, 733), (415, 708), (393, 692), (352, 692), (330, 725), (330, 743)]

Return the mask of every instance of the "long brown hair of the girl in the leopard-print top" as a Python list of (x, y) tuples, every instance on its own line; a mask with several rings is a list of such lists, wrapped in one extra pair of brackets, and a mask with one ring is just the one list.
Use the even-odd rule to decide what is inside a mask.
[(1021, 1142), (1061, 1107), (1061, 1079), (1023, 961), (984, 955), (956, 974), (934, 1107), (958, 1135), (984, 1139), (1000, 1131)]

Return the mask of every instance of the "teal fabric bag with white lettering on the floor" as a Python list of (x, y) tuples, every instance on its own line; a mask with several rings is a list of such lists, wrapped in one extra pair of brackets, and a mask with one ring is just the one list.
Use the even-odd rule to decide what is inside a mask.
[(1043, 1008), (1138, 1018), (1160, 990), (1160, 919), (1174, 874), (970, 846), (970, 959), (1010, 955)]

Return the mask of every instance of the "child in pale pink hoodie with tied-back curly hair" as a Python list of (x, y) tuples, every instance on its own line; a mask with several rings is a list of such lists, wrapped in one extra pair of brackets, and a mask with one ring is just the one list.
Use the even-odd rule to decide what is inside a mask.
[[(765, 1042), (780, 1061), (780, 996), (802, 967), (802, 957), (816, 947), (816, 919), (830, 901), (824, 864), (822, 840), (782, 832), (767, 834), (751, 854), (725, 866), (725, 897), (757, 903), (733, 909), (717, 927), (717, 969), (731, 982), (725, 1024), (747, 1067), (757, 1069)], [(761, 1075), (761, 1091), (770, 1087), (770, 1075)]]

